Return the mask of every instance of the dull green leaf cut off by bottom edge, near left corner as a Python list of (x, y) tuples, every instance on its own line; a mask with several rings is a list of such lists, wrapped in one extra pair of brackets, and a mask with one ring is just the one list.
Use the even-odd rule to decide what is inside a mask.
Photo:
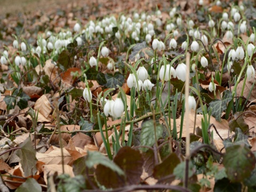
[(20, 187), (17, 188), (17, 192), (41, 192), (42, 187), (39, 185), (39, 183), (34, 178), (28, 178), (25, 182), (21, 184)]

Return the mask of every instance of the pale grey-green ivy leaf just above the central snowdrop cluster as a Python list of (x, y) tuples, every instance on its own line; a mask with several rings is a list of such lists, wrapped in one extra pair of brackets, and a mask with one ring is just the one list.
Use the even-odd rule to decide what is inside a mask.
[(136, 55), (140, 54), (142, 52), (144, 54), (144, 57), (152, 57), (154, 55), (152, 49), (147, 46), (146, 42), (142, 43), (137, 43), (133, 48), (132, 48), (132, 53), (129, 56), (130, 61), (135, 61)]

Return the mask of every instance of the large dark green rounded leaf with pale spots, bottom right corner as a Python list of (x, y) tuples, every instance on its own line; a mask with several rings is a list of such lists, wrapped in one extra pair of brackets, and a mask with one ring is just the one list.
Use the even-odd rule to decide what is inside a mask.
[(228, 147), (223, 157), (223, 165), (231, 182), (242, 182), (244, 179), (249, 178), (255, 163), (254, 154), (244, 145)]

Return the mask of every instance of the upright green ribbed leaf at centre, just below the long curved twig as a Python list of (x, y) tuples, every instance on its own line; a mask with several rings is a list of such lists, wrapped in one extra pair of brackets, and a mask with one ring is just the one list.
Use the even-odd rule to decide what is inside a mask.
[[(150, 119), (142, 123), (140, 133), (140, 143), (142, 146), (153, 146), (155, 143), (155, 137), (158, 140), (163, 135), (163, 126), (156, 122), (156, 135), (154, 130), (154, 121)], [(147, 151), (148, 148), (143, 148), (143, 151)]]

